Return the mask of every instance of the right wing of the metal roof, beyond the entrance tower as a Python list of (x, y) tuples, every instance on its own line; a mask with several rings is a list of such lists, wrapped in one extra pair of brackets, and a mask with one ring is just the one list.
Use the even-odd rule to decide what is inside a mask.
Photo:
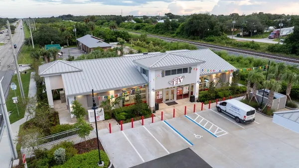
[[(205, 63), (200, 64), (201, 75), (218, 74), (222, 73), (222, 70), (236, 70), (234, 66), (226, 62), (210, 49), (175, 52), (175, 54), (205, 61)], [(212, 70), (212, 73), (210, 71), (207, 72), (202, 70)], [(213, 70), (215, 70), (215, 72)], [(219, 72), (219, 70), (221, 70), (221, 72)]]

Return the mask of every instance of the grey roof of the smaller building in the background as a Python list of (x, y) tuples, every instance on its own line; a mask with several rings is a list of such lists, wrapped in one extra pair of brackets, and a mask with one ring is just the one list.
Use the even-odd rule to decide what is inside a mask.
[(83, 37), (77, 38), (82, 44), (86, 45), (88, 48), (97, 48), (97, 47), (112, 47), (112, 45), (105, 43), (103, 39), (92, 35), (85, 35)]

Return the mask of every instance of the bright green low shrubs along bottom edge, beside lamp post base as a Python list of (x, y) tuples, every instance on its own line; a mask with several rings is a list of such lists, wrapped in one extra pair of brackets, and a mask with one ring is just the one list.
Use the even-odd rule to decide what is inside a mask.
[[(109, 165), (109, 158), (104, 151), (100, 151), (101, 160), (104, 162), (104, 168)], [(81, 155), (76, 155), (63, 165), (55, 166), (53, 168), (96, 168), (99, 162), (98, 150), (93, 150)]]

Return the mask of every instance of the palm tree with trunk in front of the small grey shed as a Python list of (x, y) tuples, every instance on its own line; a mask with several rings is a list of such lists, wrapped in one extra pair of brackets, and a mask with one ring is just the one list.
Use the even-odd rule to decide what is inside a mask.
[(282, 88), (282, 85), (281, 85), (281, 82), (275, 81), (273, 79), (270, 81), (264, 81), (263, 85), (265, 88), (270, 90), (270, 93), (268, 96), (268, 102), (267, 102), (267, 109), (269, 111), (273, 105), (274, 92), (280, 91), (280, 89)]

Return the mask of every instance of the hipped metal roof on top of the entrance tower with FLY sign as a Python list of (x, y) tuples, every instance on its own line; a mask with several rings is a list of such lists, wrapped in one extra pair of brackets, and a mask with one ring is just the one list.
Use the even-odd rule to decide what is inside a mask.
[(155, 56), (150, 56), (133, 61), (135, 64), (138, 64), (146, 69), (159, 69), (159, 68), (168, 68), (168, 67), (181, 67), (187, 65), (202, 64), (205, 61), (190, 58), (182, 55), (177, 55), (175, 53), (161, 53)]

